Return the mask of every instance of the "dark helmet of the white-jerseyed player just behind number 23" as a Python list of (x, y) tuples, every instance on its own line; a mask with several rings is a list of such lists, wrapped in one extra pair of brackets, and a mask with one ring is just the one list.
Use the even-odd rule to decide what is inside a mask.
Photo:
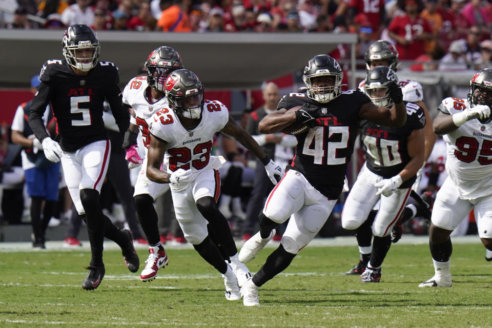
[(152, 51), (144, 64), (147, 70), (147, 83), (153, 89), (164, 91), (168, 75), (183, 68), (183, 60), (176, 50), (162, 46)]

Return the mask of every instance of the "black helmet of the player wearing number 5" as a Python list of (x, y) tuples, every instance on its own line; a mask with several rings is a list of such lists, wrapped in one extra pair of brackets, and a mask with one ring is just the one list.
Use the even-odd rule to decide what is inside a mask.
[[(74, 24), (65, 30), (63, 39), (63, 55), (70, 66), (80, 71), (87, 72), (97, 65), (100, 46), (99, 40), (94, 30), (85, 24)], [(77, 57), (77, 50), (92, 48), (93, 53), (90, 58)], [(86, 61), (90, 61), (86, 63)]]

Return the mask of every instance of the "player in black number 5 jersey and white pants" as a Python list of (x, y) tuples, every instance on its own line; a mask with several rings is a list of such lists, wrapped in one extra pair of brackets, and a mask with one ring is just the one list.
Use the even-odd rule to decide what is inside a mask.
[[(87, 223), (92, 258), (82, 288), (93, 290), (105, 274), (104, 237), (121, 247), (131, 272), (139, 266), (131, 232), (118, 230), (99, 204), (111, 147), (103, 121), (104, 100), (108, 100), (121, 133), (127, 131), (130, 117), (121, 103), (117, 67), (109, 61), (98, 61), (96, 33), (87, 25), (74, 24), (65, 31), (62, 44), (65, 59), (43, 64), (41, 84), (29, 111), (29, 125), (41, 141), (46, 158), (61, 160), (72, 200)], [(42, 120), (49, 103), (57, 120), (58, 141), (49, 137)]]

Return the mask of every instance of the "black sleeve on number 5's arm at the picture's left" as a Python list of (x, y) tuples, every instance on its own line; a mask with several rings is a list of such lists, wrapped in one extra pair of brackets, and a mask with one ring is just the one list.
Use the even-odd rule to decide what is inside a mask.
[(31, 107), (29, 108), (29, 126), (39, 141), (43, 141), (44, 138), (49, 137), (43, 122), (43, 114), (50, 102), (50, 97), (50, 86), (42, 82), (37, 88), (37, 93), (32, 99)]

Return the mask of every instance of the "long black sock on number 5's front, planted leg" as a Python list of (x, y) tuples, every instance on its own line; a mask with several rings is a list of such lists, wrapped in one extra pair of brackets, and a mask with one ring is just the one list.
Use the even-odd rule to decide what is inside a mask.
[(87, 234), (91, 243), (91, 267), (103, 267), (104, 220), (99, 193), (94, 189), (80, 190), (80, 201), (86, 211)]

